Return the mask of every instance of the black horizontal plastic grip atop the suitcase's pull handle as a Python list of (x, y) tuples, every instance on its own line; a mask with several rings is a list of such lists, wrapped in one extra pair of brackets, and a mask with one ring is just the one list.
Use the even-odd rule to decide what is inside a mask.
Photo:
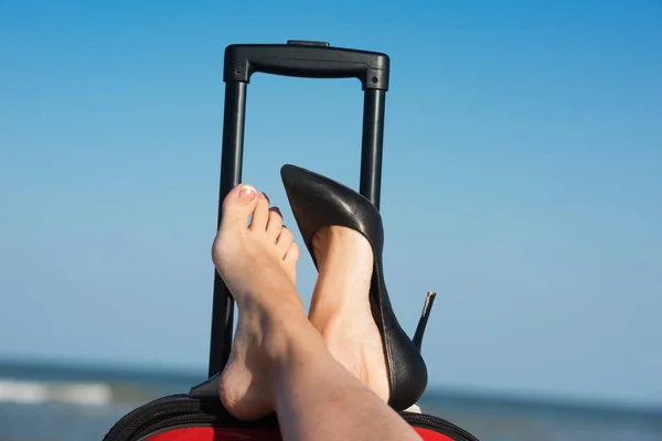
[(249, 83), (256, 72), (305, 78), (357, 78), (363, 90), (388, 90), (388, 55), (330, 47), (324, 42), (231, 44), (225, 49), (224, 82)]

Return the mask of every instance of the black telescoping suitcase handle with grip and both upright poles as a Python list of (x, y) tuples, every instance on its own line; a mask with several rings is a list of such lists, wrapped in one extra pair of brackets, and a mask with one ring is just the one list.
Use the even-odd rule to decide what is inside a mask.
[[(384, 105), (388, 90), (388, 55), (331, 47), (329, 43), (288, 41), (287, 44), (232, 44), (225, 49), (223, 80), (223, 151), (218, 219), (223, 200), (242, 181), (246, 88), (254, 73), (307, 78), (357, 78), (364, 90), (360, 193), (380, 207)], [(232, 347), (234, 302), (214, 272), (214, 301), (209, 376), (223, 370)]]

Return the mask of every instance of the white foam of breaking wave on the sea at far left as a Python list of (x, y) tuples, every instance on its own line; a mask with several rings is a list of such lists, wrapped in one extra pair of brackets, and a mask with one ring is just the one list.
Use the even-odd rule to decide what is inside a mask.
[(0, 378), (0, 402), (106, 406), (111, 401), (113, 390), (103, 383), (41, 383)]

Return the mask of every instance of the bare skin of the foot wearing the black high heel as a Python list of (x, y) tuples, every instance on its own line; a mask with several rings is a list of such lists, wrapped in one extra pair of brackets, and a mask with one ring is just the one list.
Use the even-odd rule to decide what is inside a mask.
[(370, 243), (357, 232), (331, 226), (313, 236), (312, 246), (319, 278), (309, 320), (335, 359), (388, 401), (384, 345), (369, 299), (373, 273)]

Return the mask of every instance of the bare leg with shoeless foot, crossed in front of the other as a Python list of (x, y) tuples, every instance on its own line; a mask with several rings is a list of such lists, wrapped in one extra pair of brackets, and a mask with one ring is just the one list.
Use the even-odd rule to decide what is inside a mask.
[(286, 440), (419, 440), (329, 353), (306, 318), (287, 262), (289, 250), (282, 254), (264, 233), (261, 200), (246, 189), (245, 198), (239, 193), (233, 190), (224, 202), (213, 248), (216, 269), (239, 310), (221, 381), (226, 409), (246, 420), (276, 410)]

